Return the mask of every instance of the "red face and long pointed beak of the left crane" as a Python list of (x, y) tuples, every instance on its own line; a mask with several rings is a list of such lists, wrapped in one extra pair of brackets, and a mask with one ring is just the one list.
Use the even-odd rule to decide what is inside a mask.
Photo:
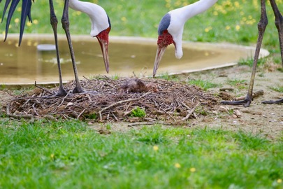
[(103, 55), (104, 65), (106, 68), (107, 73), (109, 72), (109, 57), (108, 57), (108, 38), (109, 38), (109, 32), (111, 27), (108, 27), (107, 29), (104, 29), (101, 31), (98, 35), (96, 35), (96, 38), (99, 41), (99, 44), (101, 46), (101, 51)]

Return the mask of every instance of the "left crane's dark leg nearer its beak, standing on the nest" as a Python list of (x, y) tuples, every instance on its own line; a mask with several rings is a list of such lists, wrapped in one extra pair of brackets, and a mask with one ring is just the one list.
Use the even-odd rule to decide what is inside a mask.
[(62, 23), (63, 29), (65, 30), (66, 37), (68, 40), (68, 47), (71, 53), (73, 71), (75, 73), (75, 88), (73, 89), (73, 93), (81, 93), (81, 92), (84, 92), (84, 90), (82, 89), (82, 86), (80, 85), (80, 80), (78, 78), (78, 69), (77, 69), (77, 65), (75, 64), (75, 54), (73, 52), (73, 45), (72, 45), (71, 35), (70, 35), (70, 30), (69, 30), (70, 23), (68, 21), (68, 3), (69, 3), (69, 0), (65, 0), (61, 23)]

